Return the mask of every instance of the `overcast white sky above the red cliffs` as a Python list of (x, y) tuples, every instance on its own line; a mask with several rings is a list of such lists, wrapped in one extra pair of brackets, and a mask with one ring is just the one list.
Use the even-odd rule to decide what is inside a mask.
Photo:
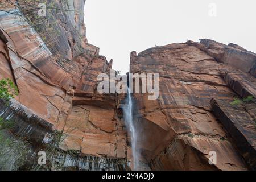
[[(210, 3), (217, 5), (216, 17), (209, 15)], [(86, 0), (85, 26), (89, 43), (122, 74), (131, 51), (155, 45), (208, 38), (256, 52), (255, 0)]]

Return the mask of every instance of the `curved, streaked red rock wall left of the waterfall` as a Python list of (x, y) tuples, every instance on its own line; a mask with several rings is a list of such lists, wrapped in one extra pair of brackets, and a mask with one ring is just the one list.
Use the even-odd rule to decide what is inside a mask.
[[(18, 123), (13, 133), (32, 141), (35, 152), (52, 140), (53, 130), (63, 133), (59, 150), (76, 151), (81, 157), (81, 162), (76, 158), (71, 163), (71, 157), (62, 157), (70, 163), (67, 167), (124, 169), (127, 134), (123, 119), (115, 117), (118, 96), (97, 93), (97, 76), (109, 74), (112, 61), (108, 63), (97, 47), (87, 43), (84, 2), (51, 1), (58, 9), (47, 9), (52, 19), (35, 19), (37, 14), (26, 13), (29, 6), (21, 4), (18, 11), (31, 18), (32, 25), (0, 11), (0, 78), (10, 78), (19, 89), (9, 107), (0, 103), (1, 115)], [(4, 7), (17, 11), (11, 3)], [(58, 35), (51, 35), (53, 31)], [(86, 167), (89, 162), (84, 159), (90, 157), (97, 158), (100, 166)]]

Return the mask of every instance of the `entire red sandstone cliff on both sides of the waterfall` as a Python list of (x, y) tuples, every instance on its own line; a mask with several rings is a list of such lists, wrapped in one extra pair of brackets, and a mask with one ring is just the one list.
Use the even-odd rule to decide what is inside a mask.
[[(34, 157), (57, 130), (64, 167), (129, 169), (119, 109), (125, 95), (97, 93), (97, 76), (109, 74), (112, 62), (86, 40), (84, 1), (52, 2), (58, 10), (49, 9), (49, 18), (21, 3), (30, 22), (0, 11), (0, 78), (19, 88), (9, 107), (0, 102), (1, 116), (15, 121), (11, 133), (31, 142)], [(207, 39), (132, 52), (131, 73), (160, 75), (158, 100), (134, 94), (143, 162), (157, 170), (255, 169), (255, 104), (229, 104), (256, 97), (255, 64), (254, 53)], [(216, 165), (209, 165), (209, 151), (217, 152)]]

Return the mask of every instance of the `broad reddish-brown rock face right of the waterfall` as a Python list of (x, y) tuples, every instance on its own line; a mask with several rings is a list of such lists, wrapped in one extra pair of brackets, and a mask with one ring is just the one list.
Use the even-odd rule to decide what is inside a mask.
[[(239, 62), (236, 68), (241, 73), (235, 74), (233, 63), (228, 61), (234, 55), (225, 53), (226, 49), (233, 47), (202, 40), (201, 43), (189, 41), (187, 44), (154, 47), (138, 56), (135, 52), (131, 53), (131, 73), (159, 73), (160, 77), (158, 100), (134, 94), (140, 134), (138, 150), (141, 150), (142, 160), (146, 160), (152, 169), (247, 169), (236, 150), (237, 143), (232, 142), (229, 132), (212, 113), (210, 106), (212, 98), (229, 104), (234, 97), (238, 97), (235, 92), (240, 90), (248, 90), (253, 96), (255, 94), (255, 78), (248, 74), (253, 75), (251, 70), (255, 60), (250, 56), (254, 57), (254, 54), (237, 46), (234, 48), (250, 55), (248, 60), (243, 60), (246, 69), (240, 61), (236, 61)], [(240, 54), (237, 56), (240, 57)], [(231, 72), (224, 73), (227, 67), (233, 75)], [(231, 75), (232, 79), (239, 78), (245, 86), (233, 86)], [(249, 77), (250, 80), (247, 80)], [(239, 114), (237, 117), (239, 119)], [(217, 164), (208, 163), (210, 151), (216, 151)]]

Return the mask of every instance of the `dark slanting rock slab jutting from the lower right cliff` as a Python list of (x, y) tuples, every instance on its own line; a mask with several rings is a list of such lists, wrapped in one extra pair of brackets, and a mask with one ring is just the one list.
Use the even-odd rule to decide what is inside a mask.
[[(231, 106), (225, 101), (213, 99), (210, 104), (214, 115), (225, 126), (236, 142), (241, 155), (253, 170), (256, 168), (256, 128), (254, 119), (242, 106)], [(256, 104), (250, 104), (256, 108)], [(248, 107), (248, 106), (247, 106)]]

